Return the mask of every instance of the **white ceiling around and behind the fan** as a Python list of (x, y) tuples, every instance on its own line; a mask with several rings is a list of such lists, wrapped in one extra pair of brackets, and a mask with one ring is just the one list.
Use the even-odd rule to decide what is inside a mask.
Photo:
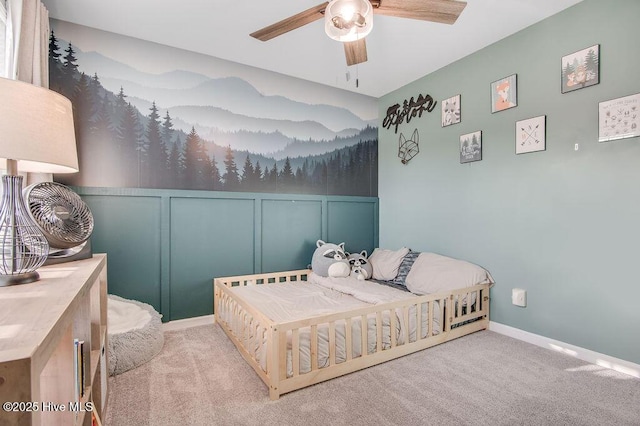
[(580, 1), (467, 0), (453, 25), (376, 15), (367, 37), (369, 60), (352, 67), (322, 21), (267, 42), (249, 36), (321, 0), (43, 3), (51, 18), (380, 97)]

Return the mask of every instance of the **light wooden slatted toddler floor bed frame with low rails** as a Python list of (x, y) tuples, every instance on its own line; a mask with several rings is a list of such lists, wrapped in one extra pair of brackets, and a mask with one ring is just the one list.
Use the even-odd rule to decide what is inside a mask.
[[(300, 282), (306, 285), (307, 276), (311, 273), (308, 269), (298, 271), (265, 273), (256, 275), (243, 275), (236, 277), (222, 277), (214, 279), (214, 313), (215, 322), (229, 336), (243, 358), (253, 367), (255, 372), (269, 388), (269, 397), (278, 399), (280, 395), (306, 386), (323, 382), (342, 376), (363, 368), (371, 367), (413, 352), (420, 351), (431, 346), (447, 342), (458, 337), (487, 329), (489, 326), (489, 287), (490, 284), (481, 284), (464, 289), (454, 290), (449, 293), (429, 294), (416, 296), (405, 300), (372, 305), (370, 307), (336, 312), (305, 318), (286, 323), (272, 321), (251, 304), (232, 291), (232, 287), (246, 285), (278, 285), (284, 282)], [(460, 300), (475, 300), (469, 307), (462, 307)], [(414, 338), (409, 338), (409, 328), (402, 327), (404, 333), (403, 344), (398, 344), (398, 336), (388, 332), (394, 329), (397, 317), (409, 322), (410, 315), (419, 315), (424, 305), (428, 306), (429, 313), (439, 318), (440, 331), (434, 330), (434, 321), (427, 321), (428, 330), (422, 329), (422, 321), (415, 321), (416, 332)], [(434, 307), (436, 312), (434, 312)], [(470, 311), (470, 312), (467, 312)], [(395, 312), (396, 315), (391, 315)], [(383, 341), (383, 315), (391, 322), (387, 327), (390, 334), (390, 345), (384, 348)], [(225, 319), (226, 318), (226, 319)], [(414, 320), (416, 318), (413, 318)], [(353, 336), (351, 325), (360, 322), (362, 326), (375, 324), (377, 339), (373, 352), (361, 350), (361, 355), (354, 356), (352, 351)], [(346, 340), (346, 357), (344, 362), (336, 362), (336, 329), (337, 324), (344, 330)], [(318, 366), (318, 334), (319, 327), (328, 329), (329, 359), (328, 365)], [(300, 335), (301, 329), (306, 333), (310, 330), (310, 356), (311, 370), (301, 372), (300, 368)], [(266, 369), (261, 366), (253, 351), (255, 348), (257, 330), (265, 330), (266, 335), (260, 338), (266, 339)], [(323, 331), (324, 332), (324, 331)], [(362, 339), (360, 348), (371, 348), (367, 342), (369, 333), (359, 333)], [(423, 336), (424, 335), (424, 336)], [(356, 342), (357, 343), (357, 342)], [(287, 374), (287, 351), (290, 350), (289, 362), (293, 374)], [(264, 361), (264, 360), (263, 360)]]

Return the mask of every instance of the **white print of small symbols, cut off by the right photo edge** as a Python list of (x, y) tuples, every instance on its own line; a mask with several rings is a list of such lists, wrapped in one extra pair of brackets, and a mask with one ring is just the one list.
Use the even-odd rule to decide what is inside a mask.
[(640, 136), (640, 93), (598, 104), (598, 142)]

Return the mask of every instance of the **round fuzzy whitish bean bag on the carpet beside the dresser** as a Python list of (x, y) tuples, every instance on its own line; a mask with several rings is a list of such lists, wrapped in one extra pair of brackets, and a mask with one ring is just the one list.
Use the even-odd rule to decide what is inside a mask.
[(151, 305), (110, 294), (107, 299), (109, 375), (124, 373), (156, 356), (164, 345), (162, 315)]

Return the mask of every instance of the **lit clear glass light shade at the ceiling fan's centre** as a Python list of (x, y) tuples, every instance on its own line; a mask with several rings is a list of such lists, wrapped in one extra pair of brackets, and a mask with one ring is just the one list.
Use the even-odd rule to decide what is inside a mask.
[(324, 30), (334, 40), (360, 40), (372, 28), (373, 7), (369, 0), (332, 0), (324, 11)]

